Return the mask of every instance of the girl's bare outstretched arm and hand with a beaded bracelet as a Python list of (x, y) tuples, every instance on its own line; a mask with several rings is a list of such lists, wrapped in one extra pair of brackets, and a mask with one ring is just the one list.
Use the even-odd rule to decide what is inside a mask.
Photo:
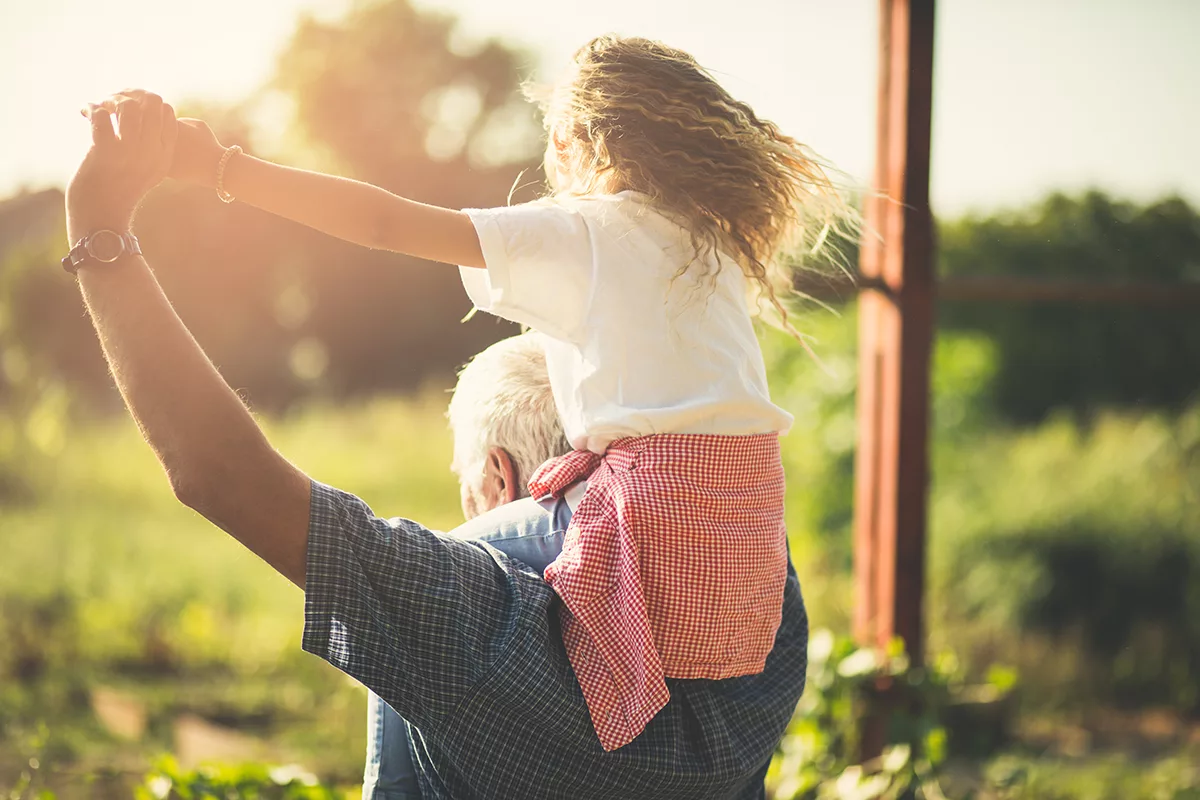
[[(216, 185), (224, 148), (208, 125), (179, 120), (172, 176)], [(431, 261), (484, 266), (479, 236), (462, 211), (425, 205), (378, 186), (272, 164), (245, 154), (228, 160), (222, 188), (236, 199), (356, 245)]]

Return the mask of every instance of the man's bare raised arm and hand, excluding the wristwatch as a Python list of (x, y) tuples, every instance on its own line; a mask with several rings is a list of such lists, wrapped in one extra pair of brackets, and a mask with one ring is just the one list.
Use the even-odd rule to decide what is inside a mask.
[[(175, 114), (139, 94), (91, 107), (92, 146), (67, 187), (67, 237), (128, 231), (170, 167)], [(113, 237), (108, 237), (112, 240)], [(175, 495), (304, 588), (308, 479), (266, 441), (175, 314), (140, 255), (95, 258), (79, 285), (104, 357)]]

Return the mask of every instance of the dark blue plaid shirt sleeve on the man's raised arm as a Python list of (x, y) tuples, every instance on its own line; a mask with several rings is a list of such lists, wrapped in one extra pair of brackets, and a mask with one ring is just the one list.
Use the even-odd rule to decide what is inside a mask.
[(313, 483), (302, 646), (434, 730), (527, 627), (541, 579)]

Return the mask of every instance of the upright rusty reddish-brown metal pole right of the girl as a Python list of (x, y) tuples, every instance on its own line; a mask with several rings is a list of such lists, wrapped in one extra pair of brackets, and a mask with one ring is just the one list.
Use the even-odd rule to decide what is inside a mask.
[[(934, 0), (880, 0), (875, 193), (865, 205), (854, 475), (854, 633), (923, 657), (929, 357), (934, 331), (929, 143)], [(886, 720), (868, 726), (878, 752)]]

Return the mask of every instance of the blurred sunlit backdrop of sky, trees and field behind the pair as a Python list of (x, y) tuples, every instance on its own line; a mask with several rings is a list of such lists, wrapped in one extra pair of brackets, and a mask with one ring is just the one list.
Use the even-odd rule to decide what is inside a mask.
[[(520, 82), (607, 31), (689, 49), (865, 188), (871, 0), (0, 7), (0, 795), (356, 796), (365, 746), (364, 691), (299, 650), (300, 593), (175, 503), (121, 411), (58, 267), (78, 108), (144, 86), (256, 155), (502, 205), (542, 180)], [(1200, 279), (1198, 35), (1188, 0), (940, 2), (938, 273)], [(286, 456), (380, 515), (460, 522), (446, 391), (516, 331), (460, 321), (454, 270), (170, 182), (136, 233)], [(1200, 309), (940, 303), (919, 672), (847, 639), (852, 293), (800, 326), (835, 377), (762, 339), (797, 417), (792, 554), (828, 633), (772, 795), (878, 796), (904, 774), (923, 796), (1200, 796)], [(850, 766), (881, 670), (932, 709), (876, 765), (887, 786)]]

